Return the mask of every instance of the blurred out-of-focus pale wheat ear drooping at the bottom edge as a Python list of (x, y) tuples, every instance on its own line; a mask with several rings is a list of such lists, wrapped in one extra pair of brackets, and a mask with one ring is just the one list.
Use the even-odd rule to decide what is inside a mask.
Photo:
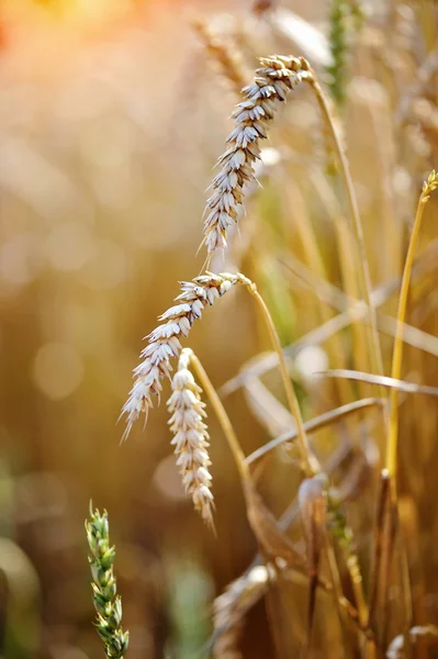
[(240, 659), (238, 640), (246, 613), (268, 591), (274, 570), (267, 566), (255, 566), (233, 581), (213, 605), (213, 657), (216, 659)]

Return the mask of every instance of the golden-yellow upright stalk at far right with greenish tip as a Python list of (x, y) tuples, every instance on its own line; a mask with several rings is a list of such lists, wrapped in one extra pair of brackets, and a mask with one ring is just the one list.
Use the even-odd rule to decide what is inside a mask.
[[(400, 380), (402, 376), (402, 360), (403, 360), (403, 324), (406, 317), (407, 306), (407, 294), (409, 290), (411, 272), (414, 263), (414, 253), (416, 249), (419, 230), (422, 226), (423, 213), (426, 203), (430, 199), (430, 193), (438, 187), (438, 175), (433, 170), (427, 179), (423, 183), (422, 194), (418, 199), (417, 212), (415, 215), (414, 226), (411, 235), (409, 246), (407, 249), (402, 288), (398, 298), (398, 310), (397, 310), (397, 328), (394, 340), (393, 356), (392, 356), (392, 368), (391, 377), (394, 380)], [(398, 389), (392, 389), (391, 391), (391, 406), (390, 406), (390, 429), (386, 442), (386, 459), (385, 466), (388, 473), (392, 482), (393, 494), (396, 493), (396, 478), (397, 478), (397, 439), (398, 439)]]

